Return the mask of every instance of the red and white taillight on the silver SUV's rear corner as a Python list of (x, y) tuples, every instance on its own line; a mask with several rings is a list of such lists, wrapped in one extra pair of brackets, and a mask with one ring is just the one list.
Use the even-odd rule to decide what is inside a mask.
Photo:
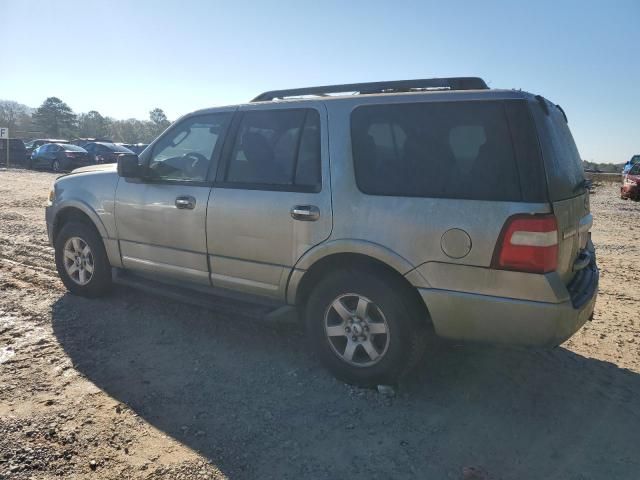
[(546, 273), (558, 267), (558, 222), (554, 215), (514, 215), (498, 239), (492, 268)]

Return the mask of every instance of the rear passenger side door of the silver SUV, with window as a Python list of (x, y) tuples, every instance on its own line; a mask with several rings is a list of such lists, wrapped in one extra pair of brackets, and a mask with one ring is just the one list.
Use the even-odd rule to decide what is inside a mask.
[(331, 233), (326, 118), (319, 102), (240, 108), (209, 197), (214, 287), (283, 300), (291, 268)]

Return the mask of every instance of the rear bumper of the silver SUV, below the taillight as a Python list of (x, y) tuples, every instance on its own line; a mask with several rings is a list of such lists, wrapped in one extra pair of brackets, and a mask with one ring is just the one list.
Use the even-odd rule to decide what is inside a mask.
[[(578, 276), (576, 276), (578, 277)], [(438, 335), (474, 342), (557, 346), (593, 315), (599, 273), (595, 261), (568, 286), (561, 303), (518, 300), (450, 290), (419, 289)]]

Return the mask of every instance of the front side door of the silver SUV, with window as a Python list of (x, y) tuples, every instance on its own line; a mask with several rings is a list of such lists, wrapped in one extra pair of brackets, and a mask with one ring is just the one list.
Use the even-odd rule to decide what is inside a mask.
[(182, 119), (141, 158), (142, 180), (119, 180), (115, 216), (125, 268), (209, 284), (209, 172), (232, 115), (221, 110)]

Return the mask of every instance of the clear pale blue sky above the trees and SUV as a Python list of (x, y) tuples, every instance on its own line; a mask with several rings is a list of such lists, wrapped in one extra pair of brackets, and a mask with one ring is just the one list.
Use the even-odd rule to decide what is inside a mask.
[(0, 0), (0, 99), (169, 119), (273, 89), (480, 76), (560, 104), (582, 158), (640, 153), (640, 0)]

